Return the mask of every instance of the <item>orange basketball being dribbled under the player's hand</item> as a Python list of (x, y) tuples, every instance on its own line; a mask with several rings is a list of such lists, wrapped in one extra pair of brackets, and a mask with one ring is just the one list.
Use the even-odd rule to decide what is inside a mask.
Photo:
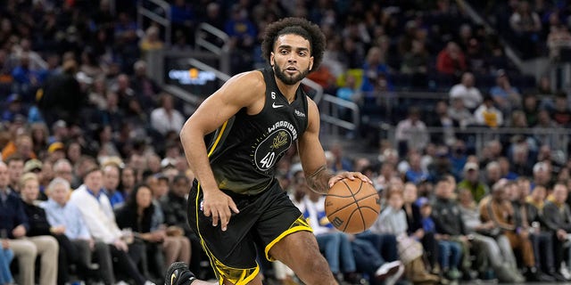
[(327, 219), (341, 232), (364, 232), (375, 223), (380, 210), (377, 190), (360, 179), (335, 183), (325, 198)]

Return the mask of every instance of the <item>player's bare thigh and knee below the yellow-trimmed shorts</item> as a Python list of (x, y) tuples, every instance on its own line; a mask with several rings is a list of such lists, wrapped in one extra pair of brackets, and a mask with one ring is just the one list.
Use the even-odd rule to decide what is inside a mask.
[(337, 284), (312, 232), (286, 235), (269, 249), (269, 255), (294, 270), (305, 284)]

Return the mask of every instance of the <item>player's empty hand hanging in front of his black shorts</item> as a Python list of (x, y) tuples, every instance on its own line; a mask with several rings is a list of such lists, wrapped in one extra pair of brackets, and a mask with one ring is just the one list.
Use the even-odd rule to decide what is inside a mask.
[(232, 212), (238, 214), (234, 200), (223, 191), (204, 191), (203, 213), (204, 216), (212, 216), (212, 226), (218, 226), (226, 231)]

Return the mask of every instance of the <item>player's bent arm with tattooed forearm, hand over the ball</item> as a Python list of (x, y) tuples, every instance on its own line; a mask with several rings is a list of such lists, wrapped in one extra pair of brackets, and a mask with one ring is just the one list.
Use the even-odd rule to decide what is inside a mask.
[(359, 172), (342, 172), (334, 175), (327, 169), (325, 151), (319, 142), (319, 110), (315, 102), (308, 98), (308, 126), (297, 142), (303, 173), (312, 191), (327, 193), (329, 188), (343, 178), (361, 179), (371, 183), (367, 176)]

